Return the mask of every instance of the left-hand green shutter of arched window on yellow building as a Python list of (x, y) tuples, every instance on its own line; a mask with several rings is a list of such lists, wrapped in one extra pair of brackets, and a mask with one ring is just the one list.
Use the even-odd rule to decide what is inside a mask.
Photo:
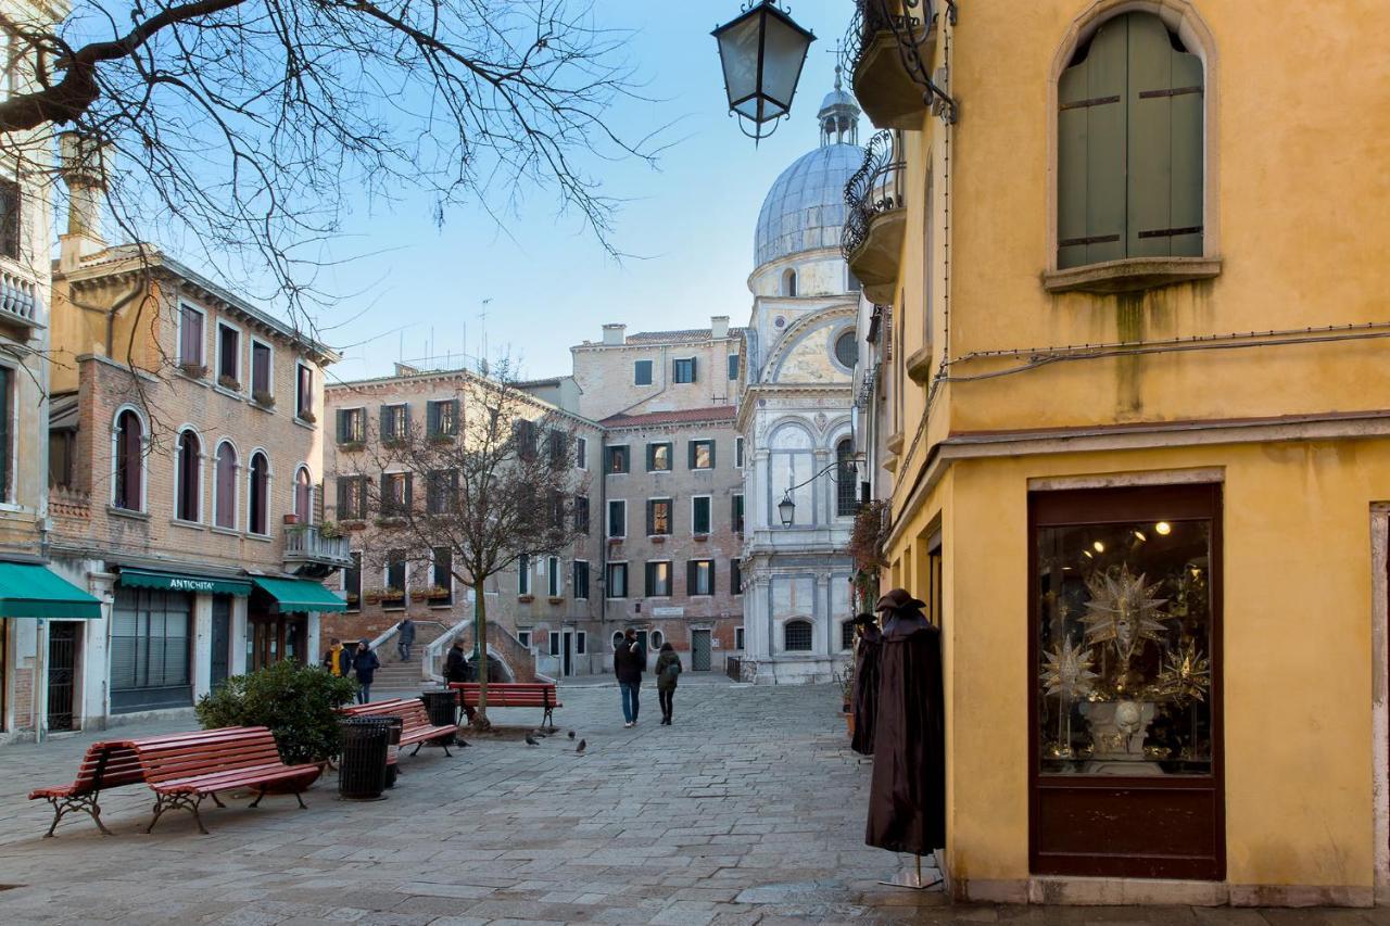
[(1058, 81), (1059, 268), (1125, 256), (1127, 19), (1102, 25)]

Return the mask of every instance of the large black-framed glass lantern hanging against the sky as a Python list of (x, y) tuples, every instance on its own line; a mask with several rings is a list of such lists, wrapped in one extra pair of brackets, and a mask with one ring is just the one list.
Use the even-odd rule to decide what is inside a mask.
[(806, 50), (816, 36), (792, 22), (774, 0), (749, 0), (737, 19), (712, 35), (724, 67), (728, 110), (738, 115), (738, 128), (756, 145), (791, 110)]

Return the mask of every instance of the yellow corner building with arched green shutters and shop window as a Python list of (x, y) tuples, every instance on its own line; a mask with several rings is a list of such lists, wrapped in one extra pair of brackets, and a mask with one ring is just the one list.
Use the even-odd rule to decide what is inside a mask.
[(863, 432), (884, 587), (944, 631), (954, 893), (1373, 902), (1390, 7), (866, 0), (853, 32), (891, 132), (847, 235)]

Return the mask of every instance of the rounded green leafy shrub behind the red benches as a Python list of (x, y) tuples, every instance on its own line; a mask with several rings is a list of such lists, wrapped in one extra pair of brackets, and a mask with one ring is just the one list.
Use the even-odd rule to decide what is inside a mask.
[[(338, 755), (338, 708), (357, 681), (293, 659), (234, 676), (199, 698), (197, 722), (215, 727), (270, 727), (286, 765), (322, 763)], [(300, 783), (295, 783), (300, 784)]]

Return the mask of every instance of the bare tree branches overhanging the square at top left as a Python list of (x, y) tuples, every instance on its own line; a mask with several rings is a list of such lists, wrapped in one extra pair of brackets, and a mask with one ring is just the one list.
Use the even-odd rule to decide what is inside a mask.
[(76, 131), (117, 165), (124, 236), (192, 246), (224, 275), (268, 268), (292, 313), (325, 295), (348, 190), (424, 190), (443, 221), (461, 202), (502, 218), (541, 188), (617, 253), (594, 170), (655, 156), (607, 121), (637, 90), (627, 35), (584, 0), (83, 0), (61, 24), (10, 10), (0, 161), (47, 171), (44, 136), (51, 150)]

